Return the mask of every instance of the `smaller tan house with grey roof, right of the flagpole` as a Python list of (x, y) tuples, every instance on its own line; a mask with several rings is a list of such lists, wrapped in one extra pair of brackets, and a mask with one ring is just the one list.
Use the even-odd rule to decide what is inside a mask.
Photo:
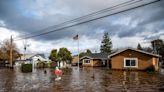
[(82, 66), (107, 66), (108, 54), (91, 53), (80, 58)]

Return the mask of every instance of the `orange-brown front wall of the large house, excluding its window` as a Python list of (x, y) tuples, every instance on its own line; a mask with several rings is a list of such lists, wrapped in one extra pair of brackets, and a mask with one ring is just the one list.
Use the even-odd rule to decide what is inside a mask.
[(126, 69), (124, 68), (124, 58), (137, 58), (138, 67), (137, 70), (144, 70), (149, 66), (156, 65), (157, 58), (143, 54), (133, 50), (126, 50), (122, 53), (119, 53), (111, 58), (112, 69)]

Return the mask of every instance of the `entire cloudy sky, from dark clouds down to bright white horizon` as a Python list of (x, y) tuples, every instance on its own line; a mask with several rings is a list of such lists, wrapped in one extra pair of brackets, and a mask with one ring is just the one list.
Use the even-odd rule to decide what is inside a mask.
[[(10, 35), (16, 39), (23, 34), (36, 34), (126, 1), (130, 0), (0, 0), (0, 41)], [(53, 48), (67, 47), (76, 54), (77, 41), (72, 39), (76, 34), (80, 38), (80, 52), (85, 49), (99, 52), (104, 32), (109, 33), (113, 48), (136, 47), (138, 43), (148, 46), (144, 42), (164, 39), (164, 1), (28, 39), (27, 53), (49, 53)], [(23, 40), (15, 43), (22, 52)]]

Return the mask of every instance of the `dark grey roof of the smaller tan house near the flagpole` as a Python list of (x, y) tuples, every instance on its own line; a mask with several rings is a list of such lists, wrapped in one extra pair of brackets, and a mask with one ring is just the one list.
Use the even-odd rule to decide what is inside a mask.
[(108, 54), (107, 53), (91, 53), (91, 54), (87, 54), (87, 55), (81, 57), (80, 59), (83, 59), (85, 57), (88, 57), (91, 59), (107, 59)]

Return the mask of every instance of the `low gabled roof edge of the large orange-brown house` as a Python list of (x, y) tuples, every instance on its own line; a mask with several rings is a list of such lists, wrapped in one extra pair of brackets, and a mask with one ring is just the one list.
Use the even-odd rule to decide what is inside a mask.
[(133, 49), (133, 48), (126, 48), (126, 49), (119, 50), (119, 51), (117, 51), (117, 52), (115, 52), (115, 53), (113, 53), (113, 54), (110, 54), (110, 55), (108, 56), (108, 58), (110, 58), (110, 57), (112, 57), (112, 56), (115, 56), (115, 55), (117, 55), (117, 54), (119, 54), (119, 53), (122, 53), (122, 52), (124, 52), (124, 51), (126, 51), (126, 50), (133, 50), (133, 51), (137, 51), (137, 52), (140, 52), (140, 53), (143, 53), (143, 54), (147, 54), (147, 55), (150, 55), (150, 56), (160, 57), (160, 55), (153, 54), (153, 53), (149, 53), (149, 52), (146, 52), (146, 51), (143, 51), (143, 50)]

